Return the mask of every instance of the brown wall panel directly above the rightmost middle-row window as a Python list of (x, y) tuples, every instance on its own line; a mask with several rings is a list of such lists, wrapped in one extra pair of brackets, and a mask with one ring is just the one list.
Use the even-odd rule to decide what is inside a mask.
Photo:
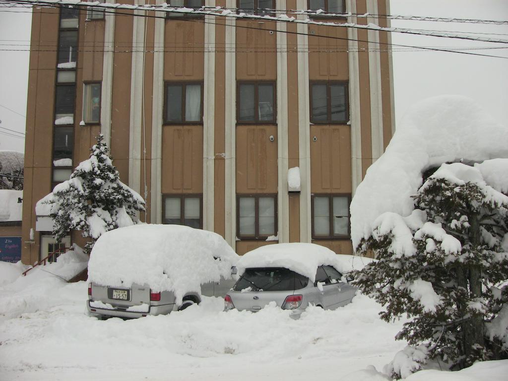
[(309, 25), (309, 79), (346, 81), (348, 78), (347, 28)]

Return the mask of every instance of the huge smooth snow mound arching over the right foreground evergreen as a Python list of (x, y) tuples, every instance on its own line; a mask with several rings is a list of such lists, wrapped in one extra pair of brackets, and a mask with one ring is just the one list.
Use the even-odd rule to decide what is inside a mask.
[[(481, 131), (481, 134), (479, 134)], [(496, 123), (472, 100), (439, 96), (411, 107), (400, 121), (386, 152), (367, 170), (351, 202), (351, 237), (355, 249), (374, 230), (385, 212), (409, 216), (411, 196), (422, 185), (422, 173), (442, 163), (481, 162), (508, 157), (508, 128)], [(480, 166), (484, 179), (496, 173), (496, 189), (508, 188), (499, 162)], [(494, 168), (495, 167), (495, 168)], [(483, 169), (483, 170), (482, 170)], [(375, 190), (375, 191), (373, 191)]]

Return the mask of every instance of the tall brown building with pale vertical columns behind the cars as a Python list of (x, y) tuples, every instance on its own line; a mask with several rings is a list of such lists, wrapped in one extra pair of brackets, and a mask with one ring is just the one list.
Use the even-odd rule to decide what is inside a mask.
[[(206, 1), (250, 14), (325, 8), (353, 16), (315, 21), (381, 26), (355, 15), (387, 15), (388, 3)], [(277, 241), (351, 253), (351, 197), (394, 129), (391, 55), (379, 45), (389, 42), (383, 31), (268, 19), (34, 8), (22, 241), (32, 228), (35, 240), (23, 262), (53, 248), (37, 201), (100, 132), (145, 198), (147, 223), (215, 231), (240, 254)]]

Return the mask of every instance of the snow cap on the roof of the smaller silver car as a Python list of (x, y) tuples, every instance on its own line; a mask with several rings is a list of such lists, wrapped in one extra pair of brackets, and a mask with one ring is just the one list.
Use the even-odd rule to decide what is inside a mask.
[(331, 265), (341, 273), (363, 268), (371, 260), (364, 257), (337, 255), (329, 248), (314, 243), (277, 243), (251, 250), (243, 255), (236, 267), (238, 274), (245, 269), (259, 267), (284, 267), (315, 280), (316, 269)]

